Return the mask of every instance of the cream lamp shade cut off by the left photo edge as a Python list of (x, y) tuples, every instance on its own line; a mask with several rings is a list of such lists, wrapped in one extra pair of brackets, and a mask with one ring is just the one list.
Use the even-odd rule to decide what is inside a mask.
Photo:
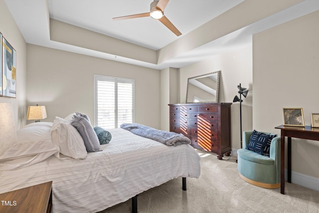
[(11, 103), (0, 103), (0, 154), (16, 142), (16, 130)]

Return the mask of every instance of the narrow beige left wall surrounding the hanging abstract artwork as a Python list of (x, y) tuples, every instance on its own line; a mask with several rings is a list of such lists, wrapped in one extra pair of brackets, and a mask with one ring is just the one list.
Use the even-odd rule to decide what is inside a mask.
[(16, 51), (16, 98), (0, 97), (0, 102), (10, 102), (13, 107), (15, 127), (25, 124), (26, 103), (26, 43), (4, 0), (0, 0), (0, 32)]

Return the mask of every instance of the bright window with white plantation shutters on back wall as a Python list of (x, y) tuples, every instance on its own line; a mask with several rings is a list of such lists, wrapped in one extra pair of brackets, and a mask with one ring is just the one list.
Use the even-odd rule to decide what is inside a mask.
[(134, 123), (134, 80), (94, 75), (94, 121), (104, 129)]

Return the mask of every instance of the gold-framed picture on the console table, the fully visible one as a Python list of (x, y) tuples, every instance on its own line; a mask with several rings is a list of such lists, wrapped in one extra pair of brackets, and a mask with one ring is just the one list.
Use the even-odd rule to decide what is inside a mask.
[(283, 108), (284, 126), (304, 127), (303, 108)]

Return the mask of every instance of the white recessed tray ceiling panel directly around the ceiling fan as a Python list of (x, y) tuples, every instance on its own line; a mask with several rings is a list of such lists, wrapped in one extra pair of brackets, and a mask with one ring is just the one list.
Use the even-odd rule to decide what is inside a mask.
[[(243, 0), (170, 0), (165, 16), (181, 36)], [(159, 20), (113, 17), (150, 12), (152, 0), (48, 0), (50, 17), (155, 50), (178, 39)]]

